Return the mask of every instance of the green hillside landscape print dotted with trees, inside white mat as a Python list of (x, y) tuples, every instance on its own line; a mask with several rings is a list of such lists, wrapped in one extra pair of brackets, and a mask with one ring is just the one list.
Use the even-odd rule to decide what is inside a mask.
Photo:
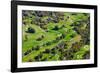
[(22, 11), (22, 61), (90, 58), (88, 13)]

